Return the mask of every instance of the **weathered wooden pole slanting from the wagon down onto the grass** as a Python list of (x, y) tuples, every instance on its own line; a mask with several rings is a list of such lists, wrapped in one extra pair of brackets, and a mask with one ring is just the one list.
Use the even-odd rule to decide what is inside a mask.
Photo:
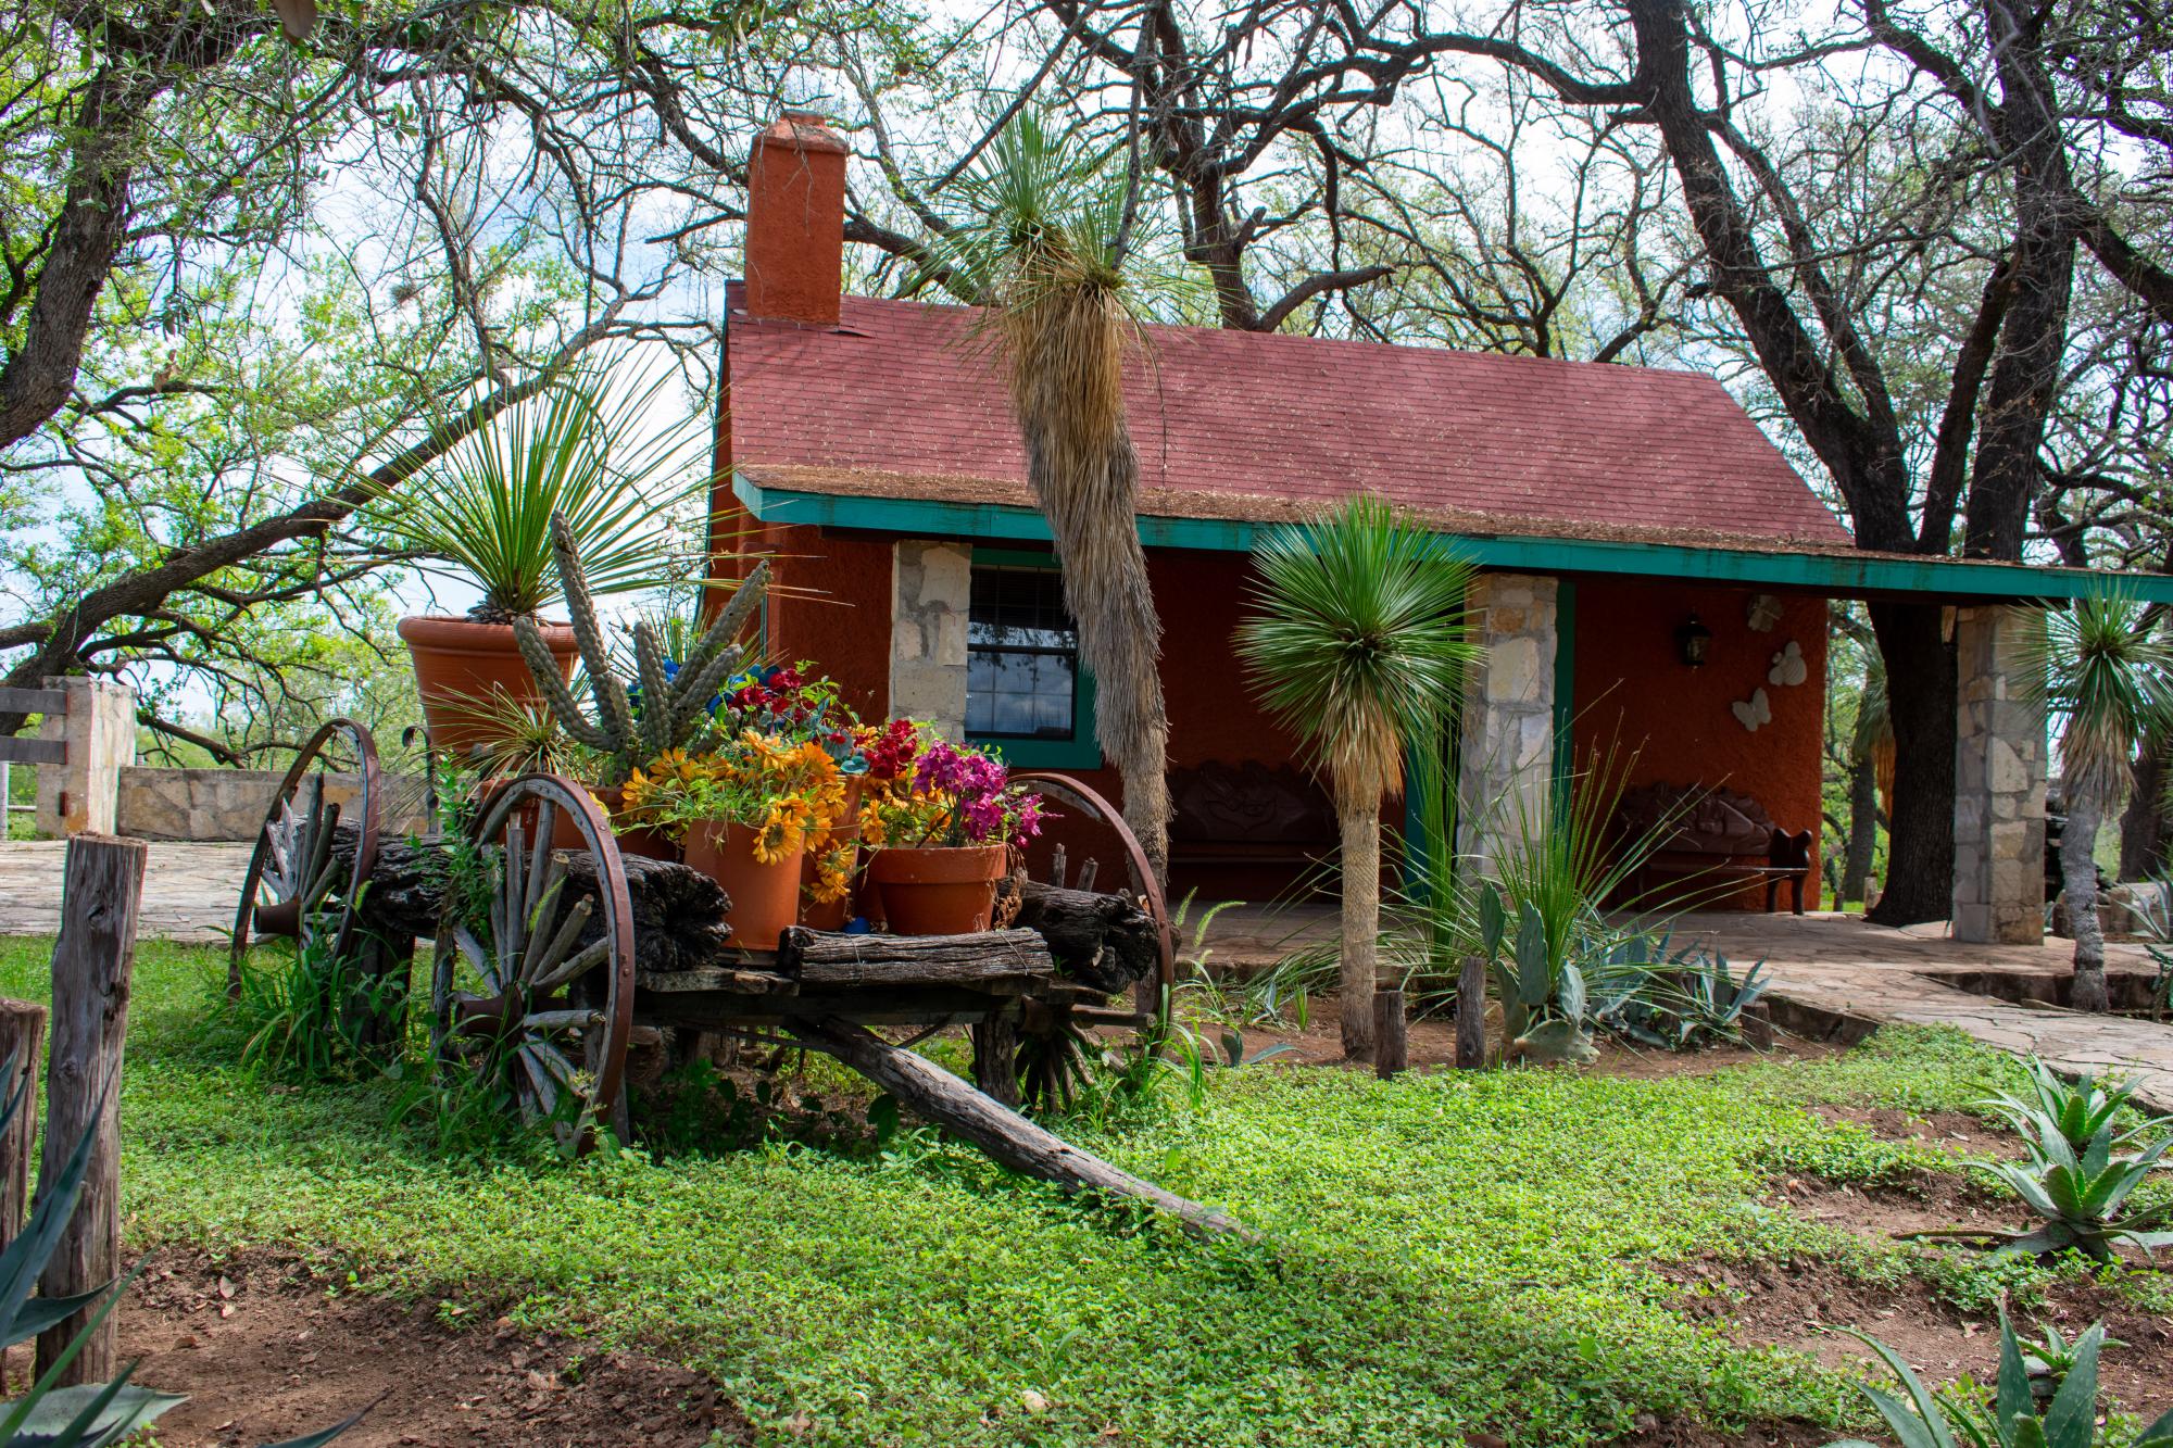
[(850, 1020), (834, 1015), (795, 1020), (789, 1031), (813, 1050), (837, 1057), (880, 1085), (902, 1107), (958, 1133), (1015, 1172), (1056, 1183), (1067, 1191), (1145, 1202), (1199, 1235), (1254, 1237), (1241, 1222), (1082, 1152), (1017, 1111), (1006, 1111), (934, 1061), (900, 1050)]

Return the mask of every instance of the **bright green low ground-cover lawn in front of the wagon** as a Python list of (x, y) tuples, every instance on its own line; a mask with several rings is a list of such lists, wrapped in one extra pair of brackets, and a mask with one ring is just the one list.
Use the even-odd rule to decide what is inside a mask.
[[(41, 998), (50, 946), (0, 944)], [(2012, 1063), (1888, 1033), (1830, 1061), (1632, 1081), (1512, 1070), (1382, 1085), (1217, 1072), (1058, 1128), (1271, 1248), (1210, 1246), (1021, 1183), (928, 1133), (650, 1161), (448, 1159), (395, 1087), (267, 1087), (215, 1020), (211, 950), (146, 944), (122, 1104), (130, 1244), (282, 1246), (450, 1315), (641, 1341), (765, 1441), (1602, 1441), (1638, 1413), (1856, 1422), (1847, 1378), (1732, 1346), (1669, 1263), (1891, 1246), (1762, 1204), (1775, 1168), (1869, 1181), (1921, 1148), (1808, 1104), (1956, 1109)], [(828, 1085), (837, 1085), (834, 1081)], [(352, 1276), (346, 1276), (352, 1274)]]

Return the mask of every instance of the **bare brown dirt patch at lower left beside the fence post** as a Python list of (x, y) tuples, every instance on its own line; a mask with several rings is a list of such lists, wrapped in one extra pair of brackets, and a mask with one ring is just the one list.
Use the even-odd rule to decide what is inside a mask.
[(598, 1355), (504, 1320), (454, 1328), (430, 1305), (332, 1298), (300, 1263), (269, 1252), (226, 1263), (154, 1252), (120, 1331), (124, 1361), (141, 1359), (139, 1383), (189, 1394), (159, 1420), (165, 1448), (276, 1441), (372, 1402), (341, 1448), (752, 1441), (732, 1405), (676, 1363)]

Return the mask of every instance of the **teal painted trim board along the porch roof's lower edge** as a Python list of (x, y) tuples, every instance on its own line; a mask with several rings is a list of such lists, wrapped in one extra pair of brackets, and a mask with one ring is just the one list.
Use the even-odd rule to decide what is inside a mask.
[[(1047, 541), (1050, 528), (1023, 485), (924, 478), (828, 467), (739, 467), (739, 502), (769, 524), (858, 528), (910, 537)], [(934, 494), (934, 496), (930, 496)], [(1139, 539), (1147, 548), (1249, 552), (1263, 530), (1304, 522), (1286, 498), (1143, 489)], [(1725, 533), (1588, 528), (1525, 517), (1428, 515), (1425, 522), (1482, 567), (1532, 574), (1617, 574), (1804, 589), (1832, 598), (1919, 596), (1969, 600), (2082, 598), (2119, 576), (2149, 602), (2173, 602), (2173, 574), (2103, 574), (2082, 567), (1927, 559), (1860, 548), (1788, 548)], [(1593, 533), (1593, 535), (1586, 535)]]

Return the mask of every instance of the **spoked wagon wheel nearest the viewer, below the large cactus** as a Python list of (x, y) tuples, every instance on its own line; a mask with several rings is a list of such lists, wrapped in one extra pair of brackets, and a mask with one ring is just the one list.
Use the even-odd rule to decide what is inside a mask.
[[(595, 861), (567, 904), (561, 815)], [(589, 791), (556, 774), (500, 785), (467, 831), (487, 891), (448, 891), (430, 970), (430, 1041), (448, 1078), (495, 1078), (522, 1120), (587, 1150), (626, 1137), (619, 1087), (635, 1028), (635, 909), (626, 865)], [(476, 918), (480, 915), (480, 918)]]

